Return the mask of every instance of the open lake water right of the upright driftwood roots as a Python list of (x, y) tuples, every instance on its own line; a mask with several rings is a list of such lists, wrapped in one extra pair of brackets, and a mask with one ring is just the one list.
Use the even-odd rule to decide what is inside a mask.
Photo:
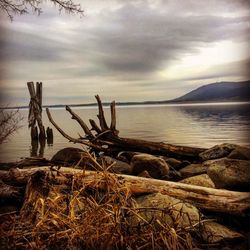
[(119, 121), (122, 135), (139, 139), (197, 147), (250, 145), (249, 104), (121, 108)]

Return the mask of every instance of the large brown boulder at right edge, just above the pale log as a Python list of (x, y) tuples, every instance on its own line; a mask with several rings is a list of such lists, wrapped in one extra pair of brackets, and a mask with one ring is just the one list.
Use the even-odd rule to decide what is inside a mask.
[(250, 190), (250, 161), (222, 158), (207, 161), (204, 165), (217, 188)]

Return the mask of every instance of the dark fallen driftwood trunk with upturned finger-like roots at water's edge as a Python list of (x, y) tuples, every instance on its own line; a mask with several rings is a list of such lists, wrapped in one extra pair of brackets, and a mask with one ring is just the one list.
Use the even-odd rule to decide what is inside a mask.
[(197, 159), (198, 155), (205, 150), (203, 148), (175, 146), (162, 142), (151, 142), (146, 140), (119, 137), (119, 131), (116, 129), (115, 102), (113, 101), (110, 105), (111, 124), (110, 127), (108, 127), (104, 116), (101, 99), (98, 95), (95, 96), (95, 98), (98, 104), (99, 113), (97, 117), (99, 119), (100, 126), (98, 126), (94, 120), (90, 119), (89, 122), (91, 129), (74, 111), (71, 110), (69, 106), (66, 106), (66, 110), (72, 115), (72, 119), (76, 120), (82, 127), (85, 137), (73, 138), (66, 134), (53, 120), (51, 113), (47, 108), (46, 112), (48, 118), (54, 127), (69, 141), (85, 144), (94, 151), (105, 152), (109, 155), (116, 155), (120, 151), (137, 151), (182, 159)]

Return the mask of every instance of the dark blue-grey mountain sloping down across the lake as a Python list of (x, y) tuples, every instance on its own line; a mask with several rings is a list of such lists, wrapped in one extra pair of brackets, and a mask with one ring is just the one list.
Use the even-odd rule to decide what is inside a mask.
[(250, 101), (250, 81), (210, 83), (170, 102), (218, 101)]

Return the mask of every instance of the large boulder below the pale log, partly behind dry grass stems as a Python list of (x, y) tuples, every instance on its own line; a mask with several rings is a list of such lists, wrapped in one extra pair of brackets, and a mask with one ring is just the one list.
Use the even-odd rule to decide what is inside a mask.
[(134, 227), (150, 223), (157, 228), (158, 220), (167, 228), (186, 228), (192, 227), (200, 220), (196, 207), (161, 193), (136, 198), (135, 208), (139, 216), (131, 217), (131, 226)]

